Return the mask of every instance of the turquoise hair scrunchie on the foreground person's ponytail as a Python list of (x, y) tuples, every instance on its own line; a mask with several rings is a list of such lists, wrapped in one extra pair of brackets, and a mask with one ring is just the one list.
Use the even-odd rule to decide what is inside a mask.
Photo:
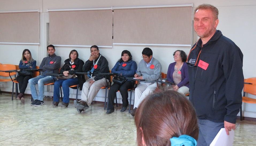
[(196, 140), (189, 135), (181, 135), (179, 137), (170, 138), (171, 146), (196, 146)]

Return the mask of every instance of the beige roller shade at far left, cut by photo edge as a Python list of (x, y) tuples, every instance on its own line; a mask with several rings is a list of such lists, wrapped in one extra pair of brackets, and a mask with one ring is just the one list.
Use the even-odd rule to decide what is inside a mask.
[(39, 12), (0, 13), (0, 43), (40, 43)]

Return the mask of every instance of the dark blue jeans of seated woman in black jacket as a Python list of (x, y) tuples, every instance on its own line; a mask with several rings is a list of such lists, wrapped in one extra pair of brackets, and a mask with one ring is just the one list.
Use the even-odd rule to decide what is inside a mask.
[(69, 103), (69, 86), (78, 85), (78, 78), (70, 78), (70, 79), (59, 79), (54, 83), (54, 92), (53, 92), (53, 100), (55, 102), (60, 102), (60, 86), (63, 89), (63, 101), (64, 103)]

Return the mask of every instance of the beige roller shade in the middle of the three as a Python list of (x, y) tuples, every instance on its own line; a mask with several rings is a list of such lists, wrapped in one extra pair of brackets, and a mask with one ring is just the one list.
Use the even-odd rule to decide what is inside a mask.
[(112, 10), (49, 12), (49, 42), (112, 46)]

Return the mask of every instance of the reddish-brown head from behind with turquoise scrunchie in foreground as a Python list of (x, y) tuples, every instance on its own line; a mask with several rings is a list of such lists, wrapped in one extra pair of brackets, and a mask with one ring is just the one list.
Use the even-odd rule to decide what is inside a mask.
[(176, 91), (148, 95), (137, 108), (134, 120), (138, 146), (197, 145), (196, 112), (188, 99)]

